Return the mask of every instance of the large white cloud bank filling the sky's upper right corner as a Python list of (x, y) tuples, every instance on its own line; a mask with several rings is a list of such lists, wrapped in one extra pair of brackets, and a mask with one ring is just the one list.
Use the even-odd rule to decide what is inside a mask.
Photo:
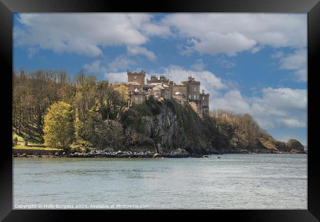
[(161, 22), (191, 40), (193, 50), (211, 55), (235, 55), (250, 49), (256, 52), (257, 44), (294, 48), (307, 45), (306, 14), (175, 13)]

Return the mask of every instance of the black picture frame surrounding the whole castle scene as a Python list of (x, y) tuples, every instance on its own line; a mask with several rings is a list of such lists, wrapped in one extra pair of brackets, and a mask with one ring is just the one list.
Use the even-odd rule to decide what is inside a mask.
[[(175, 213), (179, 217), (196, 214), (216, 219), (218, 216), (223, 220), (235, 218), (240, 221), (319, 221), (320, 220), (320, 182), (318, 176), (319, 148), (316, 146), (317, 126), (319, 126), (320, 111), (312, 101), (317, 98), (317, 74), (320, 74), (320, 2), (319, 0), (161, 0), (161, 1), (102, 1), (102, 0), (0, 0), (0, 55), (2, 62), (2, 82), (6, 86), (12, 78), (12, 13), (14, 12), (274, 12), (274, 13), (308, 13), (308, 210), (122, 210), (120, 211), (92, 211), (92, 210), (12, 210), (12, 151), (9, 149), (11, 143), (10, 131), (7, 130), (11, 124), (9, 118), (11, 110), (11, 98), (8, 91), (10, 87), (1, 87), (2, 100), (5, 105), (3, 119), (5, 125), (1, 147), (1, 180), (0, 180), (0, 219), (3, 221), (65, 221), (66, 215), (71, 214), (75, 218), (90, 218), (105, 216), (109, 219), (114, 213), (118, 219), (124, 215), (139, 220), (166, 220), (167, 213)], [(4, 68), (4, 69), (3, 69)], [(12, 92), (12, 90), (11, 90)], [(314, 100), (312, 98), (314, 96)], [(2, 121), (3, 122), (3, 121)], [(275, 203), (276, 204), (276, 203)], [(141, 214), (145, 214), (141, 217)], [(202, 218), (201, 217), (201, 218)]]

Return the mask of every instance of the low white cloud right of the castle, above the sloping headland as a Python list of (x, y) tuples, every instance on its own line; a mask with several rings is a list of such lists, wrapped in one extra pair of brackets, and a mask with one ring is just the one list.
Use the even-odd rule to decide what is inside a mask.
[(251, 114), (265, 129), (306, 127), (307, 90), (264, 88), (260, 97), (243, 97), (239, 90), (210, 96), (211, 109)]

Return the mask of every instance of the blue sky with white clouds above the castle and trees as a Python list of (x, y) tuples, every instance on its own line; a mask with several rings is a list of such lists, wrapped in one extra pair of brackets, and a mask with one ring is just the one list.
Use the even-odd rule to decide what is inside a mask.
[(307, 145), (307, 14), (15, 13), (13, 68), (192, 75), (210, 109), (251, 114), (277, 140)]

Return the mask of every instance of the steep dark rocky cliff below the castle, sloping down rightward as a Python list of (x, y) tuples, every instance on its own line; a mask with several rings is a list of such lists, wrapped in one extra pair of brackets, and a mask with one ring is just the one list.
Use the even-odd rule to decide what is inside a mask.
[(150, 150), (161, 155), (173, 152), (203, 155), (303, 150), (303, 146), (296, 140), (286, 144), (274, 140), (270, 135), (249, 140), (235, 131), (225, 135), (219, 132), (210, 117), (199, 116), (186, 102), (178, 104), (170, 100), (151, 100), (132, 109), (141, 114), (142, 106), (145, 110), (143, 114), (133, 118), (138, 119), (140, 116), (139, 124), (143, 125), (145, 137), (138, 146), (130, 147), (131, 151)]

